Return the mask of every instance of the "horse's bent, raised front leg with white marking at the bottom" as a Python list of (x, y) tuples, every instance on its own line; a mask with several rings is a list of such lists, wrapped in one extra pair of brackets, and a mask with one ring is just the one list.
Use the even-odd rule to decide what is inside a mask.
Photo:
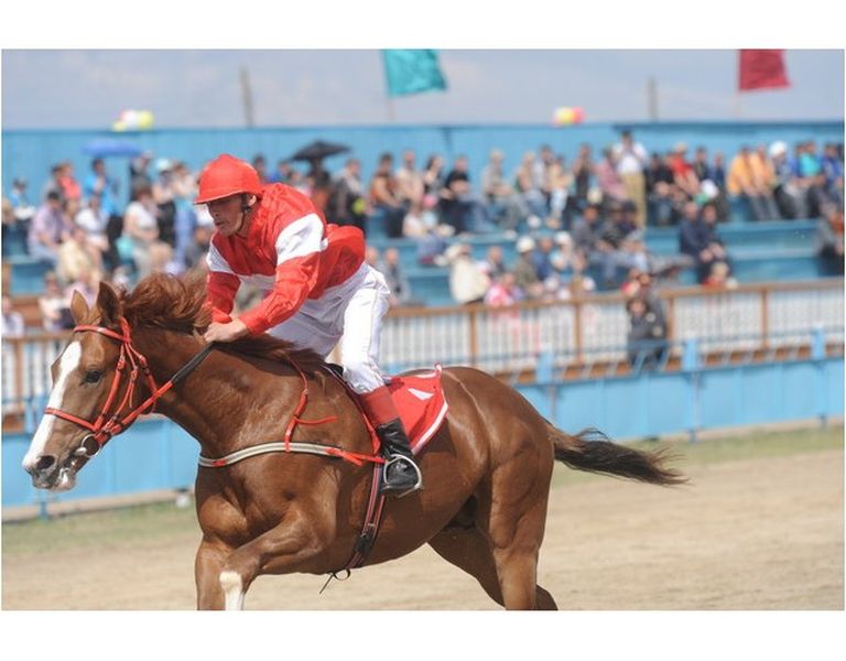
[(260, 574), (286, 574), (326, 550), (335, 537), (335, 519), (286, 512), (282, 522), (226, 559), (219, 574), (226, 610), (241, 610), (243, 596)]

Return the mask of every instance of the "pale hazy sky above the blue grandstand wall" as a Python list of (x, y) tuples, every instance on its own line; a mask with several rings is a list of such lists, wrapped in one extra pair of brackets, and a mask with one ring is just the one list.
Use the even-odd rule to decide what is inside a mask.
[(789, 89), (736, 93), (737, 51), (440, 51), (446, 91), (388, 101), (378, 50), (4, 50), (3, 129), (106, 129), (124, 109), (159, 128), (242, 127), (240, 72), (257, 126), (843, 120), (844, 55), (788, 48)]

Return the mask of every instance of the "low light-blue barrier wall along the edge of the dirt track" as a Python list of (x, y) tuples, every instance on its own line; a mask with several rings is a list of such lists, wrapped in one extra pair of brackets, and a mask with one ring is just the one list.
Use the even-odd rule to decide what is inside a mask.
[[(595, 426), (632, 438), (703, 429), (838, 418), (844, 411), (843, 358), (750, 364), (641, 373), (589, 381), (520, 386), (547, 419), (570, 432)], [(3, 436), (3, 506), (75, 500), (194, 484), (198, 445), (166, 420), (143, 421), (115, 438), (78, 476), (76, 489), (37, 491), (21, 468), (30, 438)]]

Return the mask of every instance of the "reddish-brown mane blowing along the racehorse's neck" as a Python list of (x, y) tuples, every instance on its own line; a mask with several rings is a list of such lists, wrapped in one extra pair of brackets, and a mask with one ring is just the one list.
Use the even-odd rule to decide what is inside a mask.
[[(176, 278), (153, 273), (139, 282), (131, 292), (123, 292), (121, 303), (122, 314), (131, 326), (156, 326), (198, 336), (212, 322), (203, 274)], [(324, 359), (316, 351), (270, 335), (245, 337), (217, 346), (232, 354), (290, 362), (308, 373), (325, 366)]]

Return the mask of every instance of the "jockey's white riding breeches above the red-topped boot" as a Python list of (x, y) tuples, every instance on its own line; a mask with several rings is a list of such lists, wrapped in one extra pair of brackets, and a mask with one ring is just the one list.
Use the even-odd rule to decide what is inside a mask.
[(324, 357), (341, 340), (344, 379), (359, 394), (372, 392), (384, 384), (379, 340), (389, 295), (384, 277), (362, 263), (349, 280), (327, 289), (319, 299), (306, 299), (294, 316), (268, 333)]

